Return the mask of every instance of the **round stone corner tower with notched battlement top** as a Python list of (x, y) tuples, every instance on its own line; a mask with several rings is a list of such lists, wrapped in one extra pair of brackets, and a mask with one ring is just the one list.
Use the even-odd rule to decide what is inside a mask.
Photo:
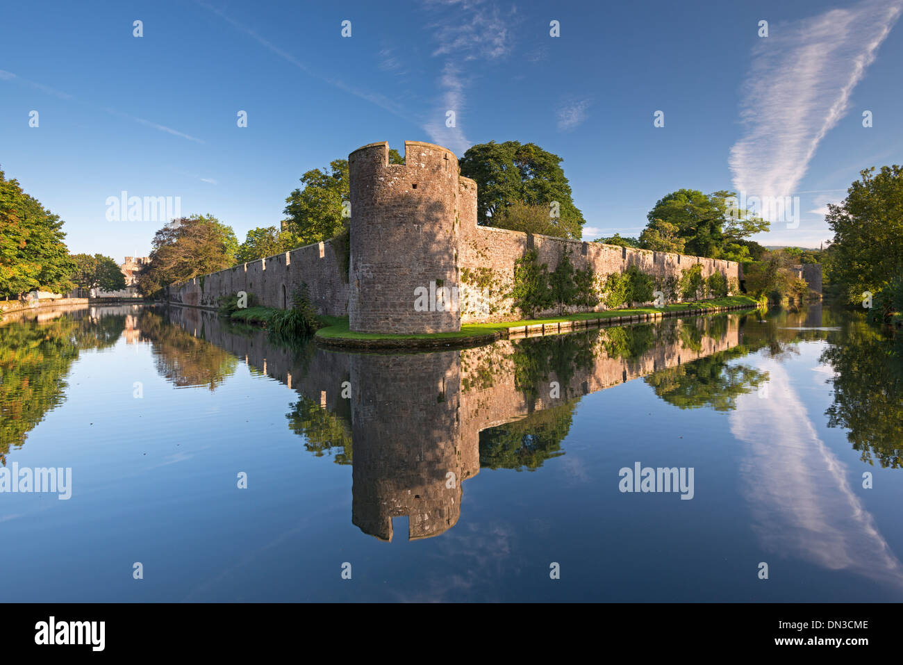
[(461, 330), (458, 308), (458, 158), (405, 141), (348, 157), (351, 190), (349, 326), (361, 333)]

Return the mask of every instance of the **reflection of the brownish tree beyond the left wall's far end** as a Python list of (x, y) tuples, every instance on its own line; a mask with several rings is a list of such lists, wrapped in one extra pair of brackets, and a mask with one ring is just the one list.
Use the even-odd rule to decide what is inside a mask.
[(195, 337), (164, 322), (160, 314), (144, 310), (138, 327), (141, 339), (154, 344), (157, 372), (179, 388), (208, 386), (212, 391), (235, 372), (238, 360), (234, 355), (207, 342), (203, 335)]

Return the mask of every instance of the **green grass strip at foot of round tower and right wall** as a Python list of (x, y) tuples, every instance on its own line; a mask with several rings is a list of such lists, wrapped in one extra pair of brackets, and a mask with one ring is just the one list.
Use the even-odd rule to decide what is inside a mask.
[[(508, 328), (518, 328), (525, 325), (538, 323), (564, 323), (570, 321), (586, 321), (595, 319), (610, 319), (616, 316), (633, 316), (636, 314), (661, 314), (663, 312), (685, 312), (689, 310), (707, 310), (718, 307), (737, 307), (740, 305), (756, 307), (759, 304), (745, 295), (731, 295), (716, 300), (695, 301), (690, 303), (668, 304), (665, 307), (636, 307), (633, 309), (615, 309), (604, 312), (582, 312), (580, 314), (567, 314), (549, 319), (526, 319), (523, 321), (499, 321), (495, 323), (465, 323), (461, 325), (460, 332), (454, 333), (420, 333), (420, 334), (396, 334), (396, 333), (356, 333), (349, 330), (348, 317), (318, 316), (318, 320), (324, 327), (317, 331), (317, 337), (326, 339), (349, 340), (422, 340), (422, 339), (461, 339), (497, 333)], [(234, 316), (234, 314), (233, 314)]]

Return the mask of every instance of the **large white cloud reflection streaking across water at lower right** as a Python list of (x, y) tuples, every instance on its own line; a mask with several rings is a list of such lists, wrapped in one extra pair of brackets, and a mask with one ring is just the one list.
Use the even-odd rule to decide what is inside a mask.
[(749, 444), (741, 475), (762, 547), (903, 587), (903, 565), (852, 491), (846, 466), (818, 437), (787, 371), (768, 358), (759, 366), (771, 376), (771, 398), (740, 396), (731, 434)]

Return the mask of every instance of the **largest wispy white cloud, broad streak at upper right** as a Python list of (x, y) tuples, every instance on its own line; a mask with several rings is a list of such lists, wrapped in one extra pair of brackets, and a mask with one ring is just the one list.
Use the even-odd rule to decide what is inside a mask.
[(864, 0), (759, 39), (740, 101), (743, 135), (731, 147), (738, 191), (794, 193), (901, 12), (901, 0)]

